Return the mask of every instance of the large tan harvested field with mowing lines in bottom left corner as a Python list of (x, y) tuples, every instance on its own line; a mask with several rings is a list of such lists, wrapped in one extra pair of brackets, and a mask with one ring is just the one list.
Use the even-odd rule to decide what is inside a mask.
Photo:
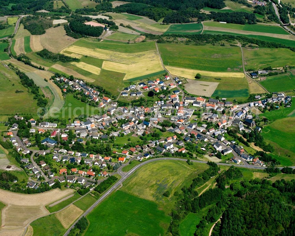
[(0, 199), (6, 205), (1, 212), (1, 225), (5, 225), (5, 230), (24, 229), (32, 220), (49, 214), (46, 205), (71, 193), (72, 189), (54, 189), (38, 194), (13, 193), (0, 189)]

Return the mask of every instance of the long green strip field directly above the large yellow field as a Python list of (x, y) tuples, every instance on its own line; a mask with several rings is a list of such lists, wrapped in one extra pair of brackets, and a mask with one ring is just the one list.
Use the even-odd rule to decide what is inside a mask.
[[(119, 44), (119, 45), (118, 45)], [(147, 42), (147, 43), (134, 43), (134, 44), (128, 44), (128, 43), (117, 43), (114, 41), (109, 41), (107, 43), (103, 42), (93, 42), (86, 39), (81, 39), (73, 43), (75, 46), (84, 47), (84, 48), (90, 48), (90, 49), (104, 49), (108, 51), (115, 51), (115, 52), (121, 52), (121, 53), (139, 53), (139, 52), (145, 52), (145, 51), (151, 51), (155, 50), (155, 42)]]

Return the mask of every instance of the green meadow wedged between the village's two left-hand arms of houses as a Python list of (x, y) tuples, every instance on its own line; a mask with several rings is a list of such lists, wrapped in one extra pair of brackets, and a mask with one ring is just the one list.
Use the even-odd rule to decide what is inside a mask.
[(91, 116), (100, 114), (100, 112), (100, 108), (89, 106), (85, 102), (81, 102), (74, 98), (73, 95), (67, 95), (63, 108), (55, 115), (58, 115), (58, 117), (62, 119), (73, 119), (79, 115)]

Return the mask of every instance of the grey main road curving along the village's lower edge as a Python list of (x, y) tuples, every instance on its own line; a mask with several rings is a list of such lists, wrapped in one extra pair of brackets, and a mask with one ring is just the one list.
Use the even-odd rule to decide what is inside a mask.
[[(148, 161), (142, 162), (139, 165), (133, 167), (132, 170), (130, 170), (129, 172), (127, 172), (117, 183), (115, 183), (108, 191), (106, 191), (106, 193), (104, 193), (104, 195), (102, 195), (91, 207), (89, 207), (89, 209), (87, 209), (84, 214), (82, 214), (74, 223), (73, 225), (67, 230), (67, 232), (65, 232), (64, 236), (67, 236), (69, 234), (69, 232), (71, 231), (71, 229), (73, 229), (73, 227), (75, 226), (75, 224), (82, 218), (85, 217), (90, 211), (92, 211), (99, 203), (101, 203), (107, 196), (109, 196), (113, 191), (115, 191), (123, 182), (124, 180), (126, 180), (133, 172), (135, 172), (135, 170), (137, 170), (138, 168), (142, 167), (145, 164), (148, 164), (150, 162), (154, 162), (154, 161), (159, 161), (159, 160), (177, 160), (177, 161), (186, 161), (186, 159), (181, 159), (181, 158), (172, 158), (172, 157), (167, 157), (167, 158), (156, 158), (156, 159), (150, 159)], [(197, 160), (191, 160), (191, 162), (199, 162), (199, 163), (207, 163), (206, 161), (197, 161)], [(227, 165), (227, 166), (232, 166), (232, 164), (227, 164), (227, 163), (220, 163), (217, 162), (217, 165)], [(263, 166), (242, 166), (242, 165), (235, 165), (235, 167), (244, 167), (244, 168), (250, 168), (250, 169), (265, 169), (266, 167)], [(122, 167), (120, 167), (122, 168)], [(280, 169), (283, 167), (280, 167)], [(291, 168), (295, 168), (295, 166), (292, 166)]]

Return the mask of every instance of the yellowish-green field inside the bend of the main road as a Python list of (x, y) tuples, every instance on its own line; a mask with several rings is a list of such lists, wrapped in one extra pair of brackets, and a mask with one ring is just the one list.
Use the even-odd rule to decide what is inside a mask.
[[(192, 173), (198, 175), (207, 167), (206, 164), (200, 163), (189, 166), (181, 161), (149, 163), (144, 167), (145, 171), (140, 171), (140, 168), (132, 175), (132, 178), (128, 178), (120, 190), (154, 201), (168, 214), (174, 203), (173, 193), (180, 190), (187, 181), (190, 181), (190, 178), (194, 178)], [(180, 172), (181, 175), (178, 174)], [(140, 184), (138, 184), (139, 179)], [(162, 195), (165, 191), (171, 192), (169, 198)]]

